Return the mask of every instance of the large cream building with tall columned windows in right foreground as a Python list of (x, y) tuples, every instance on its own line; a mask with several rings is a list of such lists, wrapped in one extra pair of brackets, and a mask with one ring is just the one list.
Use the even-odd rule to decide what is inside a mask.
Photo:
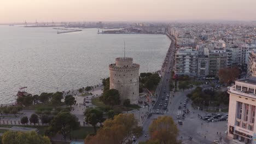
[(256, 77), (237, 80), (228, 93), (228, 136), (242, 143), (255, 142)]

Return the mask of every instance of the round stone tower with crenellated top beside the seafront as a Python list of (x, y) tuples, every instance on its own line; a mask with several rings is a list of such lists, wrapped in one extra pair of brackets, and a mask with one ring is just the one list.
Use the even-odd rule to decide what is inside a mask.
[(110, 89), (118, 90), (121, 104), (125, 99), (138, 103), (139, 64), (132, 63), (131, 57), (115, 58), (115, 63), (109, 64), (109, 82)]

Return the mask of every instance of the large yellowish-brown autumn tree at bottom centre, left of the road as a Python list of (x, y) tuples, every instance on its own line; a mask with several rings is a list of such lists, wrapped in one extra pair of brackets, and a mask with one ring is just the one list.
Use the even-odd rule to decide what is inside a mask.
[(95, 136), (86, 137), (85, 143), (119, 144), (132, 139), (137, 127), (137, 120), (129, 114), (120, 113), (113, 119), (107, 119)]

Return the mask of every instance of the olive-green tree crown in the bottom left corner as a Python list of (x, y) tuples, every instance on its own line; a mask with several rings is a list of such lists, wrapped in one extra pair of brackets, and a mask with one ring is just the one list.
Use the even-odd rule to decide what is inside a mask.
[(36, 133), (36, 131), (6, 131), (2, 136), (3, 144), (33, 144), (33, 143), (43, 143), (50, 144), (51, 141), (46, 136), (41, 136)]

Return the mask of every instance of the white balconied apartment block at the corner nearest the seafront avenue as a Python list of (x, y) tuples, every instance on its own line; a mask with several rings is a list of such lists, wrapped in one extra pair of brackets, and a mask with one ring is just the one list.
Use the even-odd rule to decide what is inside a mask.
[(176, 51), (174, 72), (176, 75), (197, 75), (198, 51), (181, 48)]

